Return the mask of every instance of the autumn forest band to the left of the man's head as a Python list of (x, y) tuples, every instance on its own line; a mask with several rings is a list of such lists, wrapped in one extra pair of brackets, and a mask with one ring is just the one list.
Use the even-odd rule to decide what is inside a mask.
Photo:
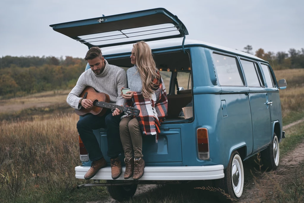
[(71, 89), (84, 72), (86, 61), (63, 57), (0, 58), (0, 96), (11, 98), (55, 89)]

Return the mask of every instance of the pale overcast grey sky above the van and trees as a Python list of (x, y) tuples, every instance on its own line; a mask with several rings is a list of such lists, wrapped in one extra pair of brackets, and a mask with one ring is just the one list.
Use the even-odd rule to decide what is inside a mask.
[(88, 48), (49, 25), (163, 7), (185, 24), (186, 39), (243, 50), (304, 47), (304, 1), (0, 0), (0, 57), (84, 57)]

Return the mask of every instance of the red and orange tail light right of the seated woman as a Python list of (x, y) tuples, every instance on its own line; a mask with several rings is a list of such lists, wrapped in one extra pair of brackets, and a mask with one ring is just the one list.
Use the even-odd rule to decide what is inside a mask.
[(197, 148), (199, 159), (209, 159), (209, 139), (207, 128), (197, 129)]

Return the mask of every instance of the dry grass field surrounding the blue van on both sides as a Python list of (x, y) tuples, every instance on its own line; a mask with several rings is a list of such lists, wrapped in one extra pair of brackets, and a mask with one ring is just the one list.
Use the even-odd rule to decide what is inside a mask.
[[(287, 89), (280, 90), (285, 125), (304, 117), (304, 69), (275, 71), (275, 74), (277, 79), (287, 81)], [(0, 100), (0, 202), (103, 202), (109, 199), (103, 187), (76, 189), (77, 185), (90, 181), (74, 177), (74, 167), (81, 164), (78, 116), (65, 102), (68, 92), (52, 91)], [(282, 152), (287, 154), (304, 141), (303, 127), (300, 125), (288, 132), (291, 138), (282, 144)], [(299, 181), (303, 183), (304, 179), (301, 178), (303, 176), (298, 177), (297, 184), (302, 187), (303, 195), (303, 184)], [(202, 194), (209, 195), (194, 192), (198, 189), (176, 191), (174, 188), (158, 187), (130, 202), (200, 202)], [(277, 188), (287, 191), (284, 197), (290, 200), (281, 202), (298, 201), (292, 197), (293, 191), (288, 193), (290, 188), (294, 187), (287, 184)]]

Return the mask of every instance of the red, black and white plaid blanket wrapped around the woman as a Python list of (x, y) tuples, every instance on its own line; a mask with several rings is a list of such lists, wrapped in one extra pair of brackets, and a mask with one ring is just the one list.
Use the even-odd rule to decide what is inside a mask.
[[(145, 99), (141, 92), (133, 92), (132, 100), (127, 100), (126, 106), (140, 110), (136, 117), (143, 135), (155, 135), (156, 142), (161, 132), (159, 126), (167, 116), (168, 99), (164, 81), (160, 78), (160, 85), (154, 90), (149, 99)], [(123, 117), (130, 116), (124, 115)], [(133, 116), (135, 117), (135, 116)]]

